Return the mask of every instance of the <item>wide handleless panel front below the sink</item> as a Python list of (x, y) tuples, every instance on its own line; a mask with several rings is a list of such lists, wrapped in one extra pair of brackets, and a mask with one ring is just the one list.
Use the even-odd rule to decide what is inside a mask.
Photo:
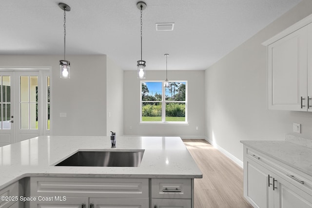
[(32, 196), (149, 197), (148, 179), (31, 177)]

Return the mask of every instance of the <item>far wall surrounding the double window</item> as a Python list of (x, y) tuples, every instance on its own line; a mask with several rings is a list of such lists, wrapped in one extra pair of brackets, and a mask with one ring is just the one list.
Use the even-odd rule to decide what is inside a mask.
[[(148, 80), (164, 80), (165, 71), (147, 70)], [(124, 134), (181, 136), (183, 138), (204, 138), (204, 71), (168, 71), (168, 79), (188, 81), (189, 124), (139, 124), (140, 122), (140, 80), (136, 71), (124, 71)], [(129, 127), (132, 127), (130, 129)], [(195, 127), (198, 130), (195, 130)]]

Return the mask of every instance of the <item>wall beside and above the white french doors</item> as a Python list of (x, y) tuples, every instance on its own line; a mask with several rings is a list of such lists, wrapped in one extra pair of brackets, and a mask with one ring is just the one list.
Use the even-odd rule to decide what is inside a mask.
[(62, 56), (0, 56), (0, 65), (52, 67), (52, 135), (106, 135), (106, 56), (66, 56), (71, 63), (70, 79), (59, 78), (60, 59)]

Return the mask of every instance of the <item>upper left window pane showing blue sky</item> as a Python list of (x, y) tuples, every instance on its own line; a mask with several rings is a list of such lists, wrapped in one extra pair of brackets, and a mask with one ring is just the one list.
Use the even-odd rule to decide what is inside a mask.
[(142, 82), (142, 101), (161, 101), (162, 82)]

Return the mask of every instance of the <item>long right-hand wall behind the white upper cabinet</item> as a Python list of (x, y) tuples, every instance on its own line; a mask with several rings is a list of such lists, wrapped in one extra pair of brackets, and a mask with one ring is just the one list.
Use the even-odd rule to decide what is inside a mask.
[(312, 13), (303, 0), (205, 71), (206, 136), (243, 161), (240, 140), (284, 140), (293, 123), (312, 138), (312, 113), (267, 110), (267, 51), (261, 43)]

